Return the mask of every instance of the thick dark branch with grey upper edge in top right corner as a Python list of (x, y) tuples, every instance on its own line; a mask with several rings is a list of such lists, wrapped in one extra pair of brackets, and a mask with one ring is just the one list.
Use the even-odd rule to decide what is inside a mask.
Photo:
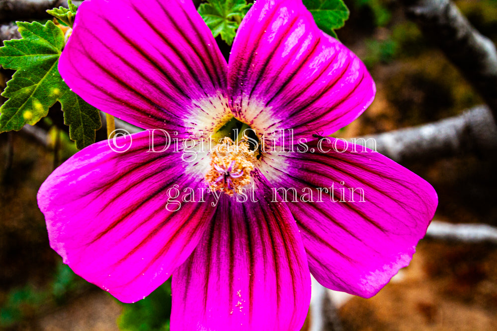
[(497, 52), (449, 0), (401, 0), (407, 15), (454, 63), (489, 105), (497, 122)]

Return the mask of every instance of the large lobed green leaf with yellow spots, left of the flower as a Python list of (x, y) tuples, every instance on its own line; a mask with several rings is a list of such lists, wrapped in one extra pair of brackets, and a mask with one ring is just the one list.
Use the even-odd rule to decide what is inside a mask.
[(0, 107), (0, 132), (36, 124), (59, 101), (76, 146), (93, 143), (101, 126), (98, 110), (72, 92), (57, 69), (64, 47), (62, 30), (52, 21), (17, 22), (17, 26), (22, 39), (5, 41), (0, 47), (0, 65), (17, 70), (1, 94), (8, 100)]

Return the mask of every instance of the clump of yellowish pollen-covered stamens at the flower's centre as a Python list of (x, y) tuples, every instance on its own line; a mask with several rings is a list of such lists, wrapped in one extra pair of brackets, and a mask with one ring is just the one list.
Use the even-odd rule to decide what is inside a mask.
[(209, 188), (233, 196), (240, 188), (251, 183), (250, 172), (254, 168), (254, 152), (247, 141), (236, 144), (224, 137), (222, 143), (212, 150), (210, 169), (205, 175)]

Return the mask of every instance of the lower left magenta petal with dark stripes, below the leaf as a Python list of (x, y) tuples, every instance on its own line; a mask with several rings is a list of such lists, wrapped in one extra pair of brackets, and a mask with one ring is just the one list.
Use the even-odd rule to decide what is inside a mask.
[[(166, 281), (215, 211), (209, 202), (182, 202), (172, 211), (183, 189), (197, 193), (201, 181), (185, 172), (179, 153), (147, 153), (147, 133), (132, 135), (125, 153), (112, 151), (107, 141), (83, 149), (38, 192), (51, 247), (77, 274), (123, 302), (140, 300)], [(157, 150), (165, 142), (159, 140)], [(181, 194), (168, 200), (176, 196), (168, 191), (175, 184)]]

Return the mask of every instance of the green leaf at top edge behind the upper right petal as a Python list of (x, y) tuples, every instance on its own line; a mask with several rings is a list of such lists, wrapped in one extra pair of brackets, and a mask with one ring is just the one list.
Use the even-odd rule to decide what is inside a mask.
[(334, 30), (341, 28), (348, 19), (349, 11), (342, 0), (303, 0), (318, 27), (336, 38)]

